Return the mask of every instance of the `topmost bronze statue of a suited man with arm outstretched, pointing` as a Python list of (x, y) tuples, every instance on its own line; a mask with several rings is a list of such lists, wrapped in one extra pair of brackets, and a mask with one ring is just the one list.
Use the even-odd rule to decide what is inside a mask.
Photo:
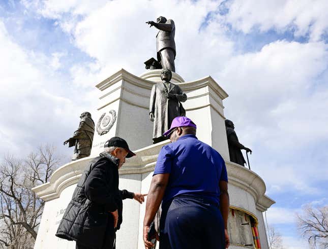
[(160, 31), (156, 35), (156, 49), (157, 60), (161, 62), (163, 69), (170, 69), (171, 72), (175, 72), (175, 25), (173, 20), (167, 20), (165, 17), (160, 16), (157, 18), (157, 22), (146, 22), (151, 26), (155, 26)]

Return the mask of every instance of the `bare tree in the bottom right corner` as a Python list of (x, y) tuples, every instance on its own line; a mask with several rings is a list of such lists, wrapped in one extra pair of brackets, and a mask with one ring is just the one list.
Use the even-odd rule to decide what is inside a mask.
[(328, 248), (328, 206), (314, 208), (308, 205), (297, 219), (302, 235), (312, 247)]

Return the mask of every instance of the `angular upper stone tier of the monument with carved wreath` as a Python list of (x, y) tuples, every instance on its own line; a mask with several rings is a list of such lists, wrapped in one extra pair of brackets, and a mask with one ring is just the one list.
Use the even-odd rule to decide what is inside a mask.
[[(96, 85), (101, 93), (97, 113), (93, 114), (95, 122), (98, 122), (91, 156), (99, 155), (104, 143), (113, 136), (125, 138), (131, 150), (153, 143), (149, 98), (154, 82), (161, 82), (160, 73), (160, 69), (151, 70), (140, 78), (121, 69)], [(173, 72), (172, 82), (179, 85), (188, 96), (183, 105), (187, 116), (197, 124), (197, 137), (228, 160), (222, 103), (228, 94), (210, 76), (198, 81), (184, 82), (181, 76)], [(104, 130), (108, 130), (107, 133)], [(103, 131), (103, 134), (99, 131)]]

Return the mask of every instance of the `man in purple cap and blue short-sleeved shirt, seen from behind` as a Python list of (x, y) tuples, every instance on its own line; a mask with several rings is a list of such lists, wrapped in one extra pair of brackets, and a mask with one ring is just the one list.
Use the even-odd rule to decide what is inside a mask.
[(164, 133), (171, 144), (162, 148), (155, 166), (143, 220), (143, 240), (162, 202), (160, 249), (229, 246), (228, 177), (221, 155), (196, 137), (196, 125), (176, 117)]

